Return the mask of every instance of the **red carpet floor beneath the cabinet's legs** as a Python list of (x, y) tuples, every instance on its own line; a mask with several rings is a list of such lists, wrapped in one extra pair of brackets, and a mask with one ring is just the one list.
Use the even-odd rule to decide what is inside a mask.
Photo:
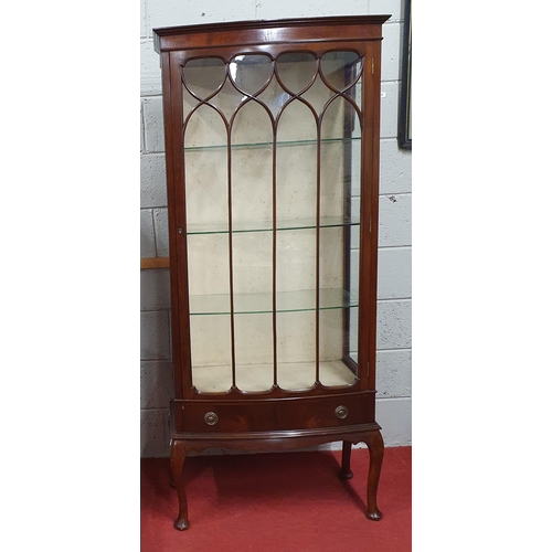
[(386, 448), (378, 492), (383, 519), (364, 517), (369, 455), (337, 477), (340, 452), (187, 458), (190, 529), (176, 531), (167, 458), (141, 460), (141, 552), (406, 552), (411, 550), (411, 447)]

